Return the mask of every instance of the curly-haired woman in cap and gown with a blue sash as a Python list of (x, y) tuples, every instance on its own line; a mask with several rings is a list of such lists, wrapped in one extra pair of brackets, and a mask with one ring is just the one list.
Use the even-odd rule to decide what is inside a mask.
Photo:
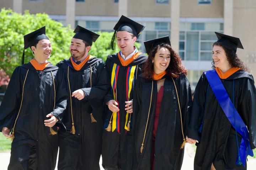
[(246, 170), (256, 147), (254, 79), (236, 55), (239, 38), (215, 34), (213, 70), (198, 81), (188, 126), (188, 141), (198, 141), (194, 170)]

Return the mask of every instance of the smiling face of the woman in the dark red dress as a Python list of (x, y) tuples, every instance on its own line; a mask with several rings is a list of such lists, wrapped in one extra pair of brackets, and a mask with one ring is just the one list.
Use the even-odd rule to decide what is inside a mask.
[(156, 74), (162, 73), (169, 66), (171, 60), (170, 51), (165, 47), (161, 47), (153, 58), (154, 61), (154, 72)]

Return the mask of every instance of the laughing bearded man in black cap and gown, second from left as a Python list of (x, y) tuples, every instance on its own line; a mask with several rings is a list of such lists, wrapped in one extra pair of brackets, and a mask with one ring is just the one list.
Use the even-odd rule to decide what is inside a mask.
[(60, 170), (100, 170), (103, 98), (108, 90), (107, 71), (101, 59), (89, 55), (100, 36), (77, 26), (69, 47), (71, 57), (57, 64), (70, 93), (59, 133)]

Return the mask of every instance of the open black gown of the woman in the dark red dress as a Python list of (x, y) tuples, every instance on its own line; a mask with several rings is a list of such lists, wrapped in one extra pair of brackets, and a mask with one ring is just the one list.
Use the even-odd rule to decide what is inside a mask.
[[(180, 149), (183, 142), (181, 130), (181, 116), (174, 83), (171, 77), (164, 76), (164, 96), (162, 97), (159, 114), (159, 124), (155, 137), (155, 170), (180, 170), (183, 160), (184, 149)], [(152, 101), (150, 107), (151, 88), (153, 81)], [(174, 78), (178, 97), (181, 106), (182, 125), (186, 137), (188, 118), (192, 106), (190, 84), (184, 74)], [(134, 169), (150, 170), (154, 113), (157, 99), (157, 83), (155, 80), (146, 80), (140, 75), (136, 81), (133, 98), (133, 133), (135, 144)], [(150, 107), (150, 113), (149, 113)], [(148, 126), (145, 135), (144, 148), (142, 146), (145, 127), (148, 119)]]

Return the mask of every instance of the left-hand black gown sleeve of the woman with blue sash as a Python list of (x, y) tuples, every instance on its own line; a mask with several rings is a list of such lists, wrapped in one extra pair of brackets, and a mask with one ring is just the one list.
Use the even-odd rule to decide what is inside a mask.
[(198, 132), (198, 130), (202, 125), (203, 120), (207, 83), (208, 81), (206, 80), (205, 75), (202, 74), (194, 91), (192, 111), (188, 123), (187, 136), (189, 138), (198, 140), (198, 142), (201, 141), (201, 134)]

